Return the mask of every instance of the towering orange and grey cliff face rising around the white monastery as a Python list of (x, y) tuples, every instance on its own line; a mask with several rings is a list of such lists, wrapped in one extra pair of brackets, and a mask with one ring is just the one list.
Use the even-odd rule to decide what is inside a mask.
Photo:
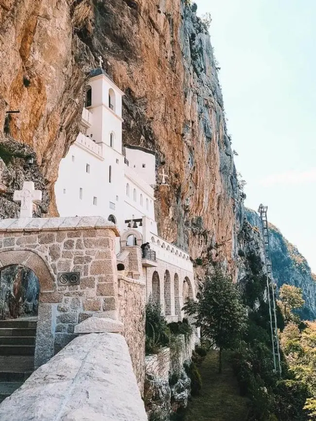
[[(41, 214), (56, 215), (58, 165), (79, 131), (83, 89), (101, 54), (125, 92), (124, 143), (155, 150), (157, 174), (164, 167), (169, 175), (169, 187), (156, 190), (161, 235), (204, 264), (225, 260), (235, 275), (243, 207), (210, 37), (187, 3), (0, 0), (0, 140), (35, 152), (50, 199)], [(5, 153), (11, 185), (0, 191), (1, 216), (10, 217), (12, 185), (34, 177), (15, 152), (8, 168)], [(197, 278), (203, 271), (196, 267)]]

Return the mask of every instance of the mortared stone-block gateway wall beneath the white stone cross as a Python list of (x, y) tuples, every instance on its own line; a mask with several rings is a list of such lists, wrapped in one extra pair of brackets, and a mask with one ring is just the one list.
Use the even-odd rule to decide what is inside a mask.
[[(35, 367), (74, 338), (88, 317), (117, 319), (117, 228), (101, 217), (0, 221), (0, 266), (25, 265), (40, 285)], [(59, 272), (80, 272), (80, 285), (60, 286)]]

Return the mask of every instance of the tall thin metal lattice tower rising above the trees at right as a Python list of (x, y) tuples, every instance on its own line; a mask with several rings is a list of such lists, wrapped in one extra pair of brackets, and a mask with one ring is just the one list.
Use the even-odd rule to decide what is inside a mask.
[(277, 314), (276, 314), (276, 300), (275, 300), (275, 283), (272, 276), (272, 264), (269, 244), (269, 231), (268, 231), (268, 220), (266, 217), (268, 207), (261, 204), (258, 212), (261, 219), (261, 228), (263, 236), (263, 250), (264, 250), (264, 261), (266, 268), (266, 286), (267, 296), (269, 303), (270, 313), (270, 327), (271, 327), (271, 340), (272, 340), (272, 354), (274, 370), (281, 376), (281, 359), (280, 359), (280, 346), (278, 337), (278, 326), (277, 326)]

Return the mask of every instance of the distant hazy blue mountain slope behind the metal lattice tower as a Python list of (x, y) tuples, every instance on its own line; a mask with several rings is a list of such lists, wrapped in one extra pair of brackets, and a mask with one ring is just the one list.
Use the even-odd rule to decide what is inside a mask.
[[(258, 214), (246, 209), (246, 217), (253, 227), (261, 227)], [(302, 318), (316, 319), (316, 276), (311, 272), (304, 256), (284, 238), (280, 230), (269, 224), (269, 239), (272, 261), (272, 273), (278, 287), (282, 284), (302, 288), (305, 305), (300, 315)]]

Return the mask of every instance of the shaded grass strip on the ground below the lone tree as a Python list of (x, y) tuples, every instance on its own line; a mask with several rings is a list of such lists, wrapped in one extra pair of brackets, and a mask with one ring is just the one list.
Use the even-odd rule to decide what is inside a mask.
[(223, 354), (223, 372), (218, 373), (218, 352), (210, 351), (198, 367), (202, 376), (199, 396), (189, 403), (185, 421), (245, 421), (248, 399), (241, 397), (237, 380)]

